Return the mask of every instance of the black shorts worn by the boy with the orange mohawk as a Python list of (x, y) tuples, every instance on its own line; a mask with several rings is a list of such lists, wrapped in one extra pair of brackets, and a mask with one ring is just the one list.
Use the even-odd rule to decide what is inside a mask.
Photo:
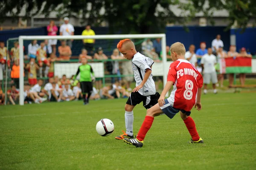
[(143, 102), (144, 108), (149, 109), (158, 103), (159, 97), (160, 94), (158, 92), (151, 96), (142, 96), (139, 92), (131, 92), (126, 104), (136, 106), (140, 102)]

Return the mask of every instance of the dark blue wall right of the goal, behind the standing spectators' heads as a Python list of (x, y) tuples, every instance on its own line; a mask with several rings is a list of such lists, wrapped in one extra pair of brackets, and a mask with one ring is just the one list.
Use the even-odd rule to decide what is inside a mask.
[(224, 31), (225, 27), (188, 27), (186, 32), (183, 27), (166, 27), (166, 43), (172, 45), (175, 42), (182, 42), (188, 50), (190, 44), (195, 45), (195, 49), (200, 48), (200, 42), (206, 42), (207, 47), (212, 46), (212, 40), (217, 34), (221, 35), (224, 49), (229, 50), (230, 31)]

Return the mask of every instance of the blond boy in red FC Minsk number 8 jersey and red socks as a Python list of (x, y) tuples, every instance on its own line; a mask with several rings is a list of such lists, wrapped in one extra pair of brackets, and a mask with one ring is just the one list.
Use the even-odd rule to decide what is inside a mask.
[[(147, 110), (147, 115), (140, 127), (137, 138), (123, 139), (128, 144), (142, 147), (145, 135), (154, 121), (154, 116), (165, 113), (166, 116), (172, 119), (178, 112), (180, 112), (180, 117), (183, 119), (192, 136), (189, 143), (203, 143), (195, 128), (194, 120), (189, 116), (194, 105), (198, 111), (202, 108), (201, 93), (203, 78), (197, 69), (185, 59), (186, 50), (182, 43), (174, 43), (170, 51), (174, 62), (170, 65), (165, 88), (158, 99), (158, 103)], [(168, 99), (165, 99), (166, 93), (172, 85), (172, 93)]]

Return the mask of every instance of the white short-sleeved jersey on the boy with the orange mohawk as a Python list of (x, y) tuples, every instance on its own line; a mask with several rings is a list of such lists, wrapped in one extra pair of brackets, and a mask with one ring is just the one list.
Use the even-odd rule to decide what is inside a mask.
[[(144, 55), (137, 52), (132, 59), (132, 69), (134, 71), (134, 79), (136, 81), (136, 86), (140, 85), (145, 76), (146, 69), (151, 70), (151, 66), (154, 64), (154, 61), (151, 58), (145, 57)], [(143, 96), (150, 96), (156, 93), (156, 88), (154, 80), (152, 79), (153, 75), (150, 74), (148, 80), (143, 85), (138, 92)]]

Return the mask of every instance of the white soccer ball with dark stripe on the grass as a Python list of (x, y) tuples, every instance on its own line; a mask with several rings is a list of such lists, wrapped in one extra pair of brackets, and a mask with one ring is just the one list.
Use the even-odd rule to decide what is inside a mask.
[(114, 124), (109, 119), (101, 119), (97, 125), (96, 130), (100, 136), (109, 136), (114, 131)]

